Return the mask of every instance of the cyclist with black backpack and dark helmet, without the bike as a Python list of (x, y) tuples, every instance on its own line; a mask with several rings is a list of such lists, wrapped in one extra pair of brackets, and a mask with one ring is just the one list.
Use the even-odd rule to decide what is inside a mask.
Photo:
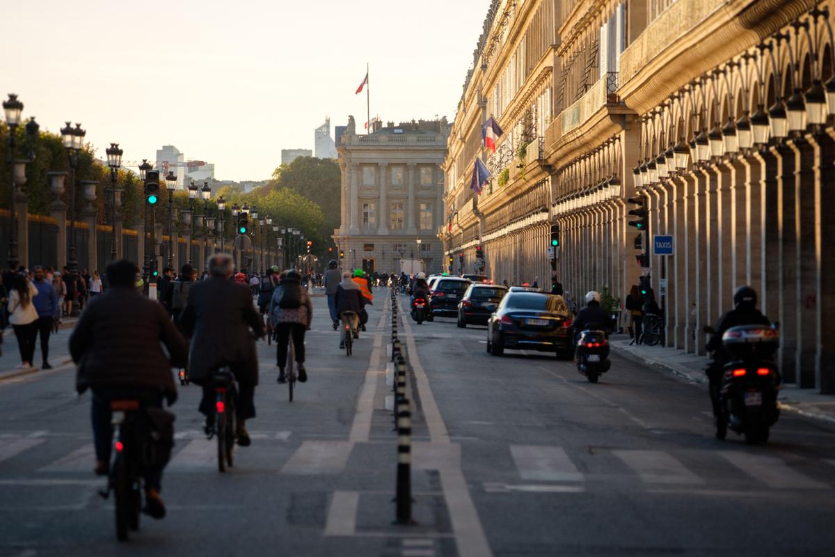
[(305, 370), (305, 331), (311, 328), (313, 304), (307, 291), (301, 287), (301, 273), (287, 271), (281, 284), (276, 286), (270, 301), (270, 316), (276, 327), (276, 366), (278, 382), (286, 382), (284, 367), (287, 363), (287, 341), (293, 338), (299, 381), (307, 381)]

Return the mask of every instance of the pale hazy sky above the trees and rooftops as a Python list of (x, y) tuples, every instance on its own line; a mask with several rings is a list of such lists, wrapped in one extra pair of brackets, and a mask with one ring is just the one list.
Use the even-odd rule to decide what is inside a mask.
[(29, 0), (3, 10), (0, 94), (58, 132), (80, 122), (100, 156), (163, 144), (262, 180), (281, 149), (348, 114), (453, 119), (489, 0)]

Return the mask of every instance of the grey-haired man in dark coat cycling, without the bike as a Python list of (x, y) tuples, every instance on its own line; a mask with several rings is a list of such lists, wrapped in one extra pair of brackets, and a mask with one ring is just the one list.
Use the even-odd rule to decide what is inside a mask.
[(211, 374), (220, 367), (229, 366), (239, 390), (235, 406), (238, 444), (246, 447), (250, 444), (250, 436), (244, 423), (256, 415), (258, 354), (255, 337), (263, 337), (265, 332), (264, 322), (252, 303), (249, 286), (230, 281), (233, 270), (231, 256), (212, 256), (210, 278), (191, 286), (180, 323), (185, 335), (191, 338), (189, 380), (203, 387), (200, 412), (206, 416), (207, 433), (214, 427), (215, 418)]

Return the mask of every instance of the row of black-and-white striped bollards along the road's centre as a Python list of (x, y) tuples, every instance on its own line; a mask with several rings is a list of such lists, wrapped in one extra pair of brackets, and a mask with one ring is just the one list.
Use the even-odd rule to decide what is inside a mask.
[(397, 429), (397, 514), (394, 524), (412, 520), (412, 413), (406, 396), (406, 357), (397, 338), (397, 293), (392, 289), (392, 363), (394, 367), (394, 426)]

